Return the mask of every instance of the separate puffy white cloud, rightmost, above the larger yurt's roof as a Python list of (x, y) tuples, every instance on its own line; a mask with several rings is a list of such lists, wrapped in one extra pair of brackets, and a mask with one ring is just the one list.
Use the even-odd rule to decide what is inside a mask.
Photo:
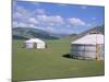
[(86, 25), (86, 23), (84, 21), (82, 21), (81, 19), (78, 19), (78, 17), (71, 17), (71, 19), (69, 19), (69, 23), (71, 25), (74, 25), (74, 26)]

